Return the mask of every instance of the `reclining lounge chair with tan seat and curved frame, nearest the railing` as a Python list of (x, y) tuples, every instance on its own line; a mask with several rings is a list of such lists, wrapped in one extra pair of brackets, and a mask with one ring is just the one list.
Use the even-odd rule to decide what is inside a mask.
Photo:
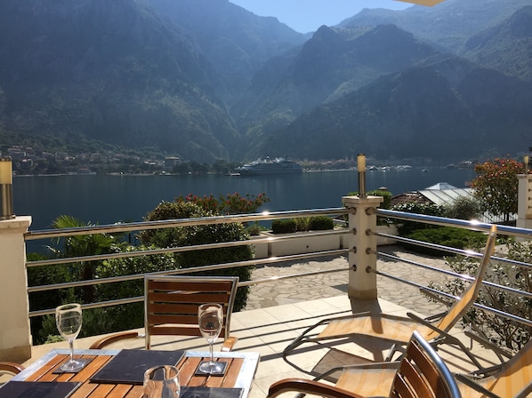
[[(326, 343), (335, 342), (335, 344), (352, 342), (356, 337), (366, 336), (369, 338), (378, 338), (381, 341), (390, 342), (391, 349), (386, 357), (386, 361), (391, 361), (396, 351), (401, 351), (414, 330), (417, 330), (423, 338), (436, 346), (442, 343), (458, 346), (467, 354), (472, 362), (481, 367), (480, 362), (472, 355), (469, 350), (458, 339), (448, 333), (457, 322), (459, 322), (465, 313), (471, 308), (477, 299), (482, 285), (482, 278), (489, 264), (489, 259), (494, 252), (496, 242), (496, 226), (491, 227), (488, 234), (488, 242), (484, 254), (480, 261), (480, 267), (477, 271), (474, 281), (469, 288), (463, 292), (460, 299), (449, 307), (449, 309), (438, 315), (428, 318), (421, 318), (415, 314), (407, 313), (408, 317), (396, 316), (391, 314), (373, 314), (360, 313), (351, 314), (338, 318), (324, 319), (295, 338), (292, 343), (286, 346), (283, 351), (284, 360), (297, 370), (310, 375), (316, 375), (315, 371), (304, 370), (288, 359), (288, 355), (294, 354), (296, 348), (307, 344), (325, 345)], [(325, 329), (316, 331), (326, 325)]]

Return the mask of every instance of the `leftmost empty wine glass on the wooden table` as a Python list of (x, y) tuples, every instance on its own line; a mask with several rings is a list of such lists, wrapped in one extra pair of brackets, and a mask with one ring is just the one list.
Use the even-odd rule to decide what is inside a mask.
[(60, 370), (77, 371), (86, 364), (85, 360), (74, 359), (74, 339), (77, 338), (79, 330), (81, 330), (81, 322), (81, 305), (65, 304), (55, 308), (57, 330), (59, 330), (62, 338), (69, 342), (70, 346), (70, 359), (61, 365)]

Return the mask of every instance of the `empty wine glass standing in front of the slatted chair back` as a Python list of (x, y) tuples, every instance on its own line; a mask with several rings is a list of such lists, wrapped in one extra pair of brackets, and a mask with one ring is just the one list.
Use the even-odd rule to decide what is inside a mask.
[(214, 341), (222, 331), (223, 323), (223, 309), (220, 304), (208, 303), (203, 304), (197, 309), (197, 319), (199, 322), (199, 330), (204, 338), (209, 343), (211, 351), (211, 360), (202, 362), (199, 365), (199, 370), (208, 374), (216, 374), (223, 372), (223, 365), (221, 362), (214, 362), (213, 345)]

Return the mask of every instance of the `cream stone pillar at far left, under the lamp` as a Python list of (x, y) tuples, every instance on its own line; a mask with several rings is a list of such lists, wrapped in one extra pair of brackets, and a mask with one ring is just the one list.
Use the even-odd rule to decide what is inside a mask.
[(0, 361), (31, 357), (24, 234), (31, 217), (0, 221)]

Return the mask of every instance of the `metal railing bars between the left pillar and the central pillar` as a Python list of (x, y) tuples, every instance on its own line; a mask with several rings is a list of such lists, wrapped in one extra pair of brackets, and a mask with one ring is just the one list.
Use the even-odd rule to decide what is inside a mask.
[[(29, 231), (25, 236), (25, 240), (37, 240), (37, 239), (53, 239), (67, 236), (75, 235), (96, 235), (96, 234), (118, 234), (125, 232), (139, 232), (142, 230), (149, 229), (161, 229), (161, 228), (173, 228), (173, 227), (193, 227), (193, 226), (202, 226), (202, 225), (213, 225), (213, 224), (230, 224), (230, 223), (246, 223), (254, 221), (263, 221), (263, 220), (273, 220), (273, 219), (294, 219), (294, 218), (307, 218), (313, 216), (330, 216), (330, 217), (339, 217), (347, 213), (345, 208), (333, 208), (333, 209), (318, 209), (318, 210), (303, 210), (303, 211), (276, 211), (276, 212), (265, 212), (260, 214), (241, 214), (241, 215), (231, 215), (231, 216), (215, 216), (215, 217), (203, 217), (196, 219), (168, 219), (168, 220), (157, 220), (157, 221), (147, 221), (147, 222), (135, 222), (127, 224), (112, 224), (112, 225), (102, 225), (102, 226), (93, 226), (93, 227), (71, 227), (63, 229), (46, 229), (46, 230), (36, 230)], [(314, 232), (307, 234), (297, 234), (298, 239), (305, 239), (306, 237), (316, 238), (319, 236), (341, 236), (346, 234), (346, 229), (343, 230), (330, 230), (323, 232)], [(246, 241), (236, 241), (236, 242), (223, 242), (223, 243), (206, 243), (201, 245), (190, 245), (190, 246), (181, 246), (181, 247), (172, 247), (172, 248), (162, 248), (162, 249), (150, 249), (143, 251), (127, 251), (127, 252), (117, 252), (109, 254), (99, 254), (99, 255), (89, 255), (82, 257), (70, 257), (70, 258), (58, 258), (58, 259), (40, 259), (34, 261), (27, 261), (26, 267), (44, 267), (60, 264), (72, 264), (72, 263), (87, 263), (91, 261), (101, 261), (105, 259), (125, 259), (141, 256), (153, 256), (161, 255), (165, 253), (178, 253), (184, 251), (197, 251), (197, 250), (209, 250), (209, 249), (221, 249), (229, 247), (237, 247), (242, 245), (259, 245), (267, 244), (272, 245), (275, 243), (280, 243), (284, 241), (289, 241), (294, 239), (294, 235), (283, 235), (283, 236), (267, 236), (267, 237), (254, 237), (253, 240)], [(340, 241), (340, 238), (339, 238)], [(269, 250), (270, 252), (270, 250)], [(337, 249), (329, 251), (318, 251), (286, 256), (276, 256), (269, 257), (267, 259), (251, 259), (245, 261), (235, 261), (224, 264), (215, 264), (201, 267), (187, 267), (179, 268), (169, 271), (159, 271), (154, 273), (149, 273), (149, 275), (186, 275), (202, 271), (215, 271), (222, 270), (234, 267), (256, 267), (260, 265), (274, 264), (285, 261), (296, 261), (304, 259), (315, 259), (319, 257), (326, 256), (339, 256), (345, 255), (348, 253), (347, 249)], [(327, 274), (331, 272), (345, 271), (347, 268), (343, 267), (337, 270), (326, 270), (319, 272), (308, 272), (308, 273), (299, 273), (295, 275), (285, 275), (281, 278), (269, 278), (262, 280), (254, 281), (241, 281), (238, 283), (238, 286), (248, 286), (251, 284), (257, 283), (269, 283), (273, 279), (286, 279), (301, 277), (305, 275), (319, 275)], [(77, 282), (68, 282), (68, 283), (53, 283), (47, 285), (37, 285), (29, 286), (28, 293), (36, 293), (41, 291), (56, 291), (60, 289), (84, 287), (90, 285), (98, 285), (104, 283), (120, 283), (141, 280), (146, 274), (139, 275), (122, 275), (114, 276), (107, 278), (97, 278), (91, 280), (83, 280)], [(116, 299), (109, 300), (104, 302), (95, 302), (95, 303), (85, 303), (83, 305), (84, 309), (99, 308), (104, 306), (118, 306), (124, 304), (130, 304), (134, 302), (142, 301), (143, 297), (133, 297), (127, 299)], [(42, 310), (30, 311), (30, 317), (42, 316), (45, 314), (53, 314), (54, 308), (47, 308)]]

